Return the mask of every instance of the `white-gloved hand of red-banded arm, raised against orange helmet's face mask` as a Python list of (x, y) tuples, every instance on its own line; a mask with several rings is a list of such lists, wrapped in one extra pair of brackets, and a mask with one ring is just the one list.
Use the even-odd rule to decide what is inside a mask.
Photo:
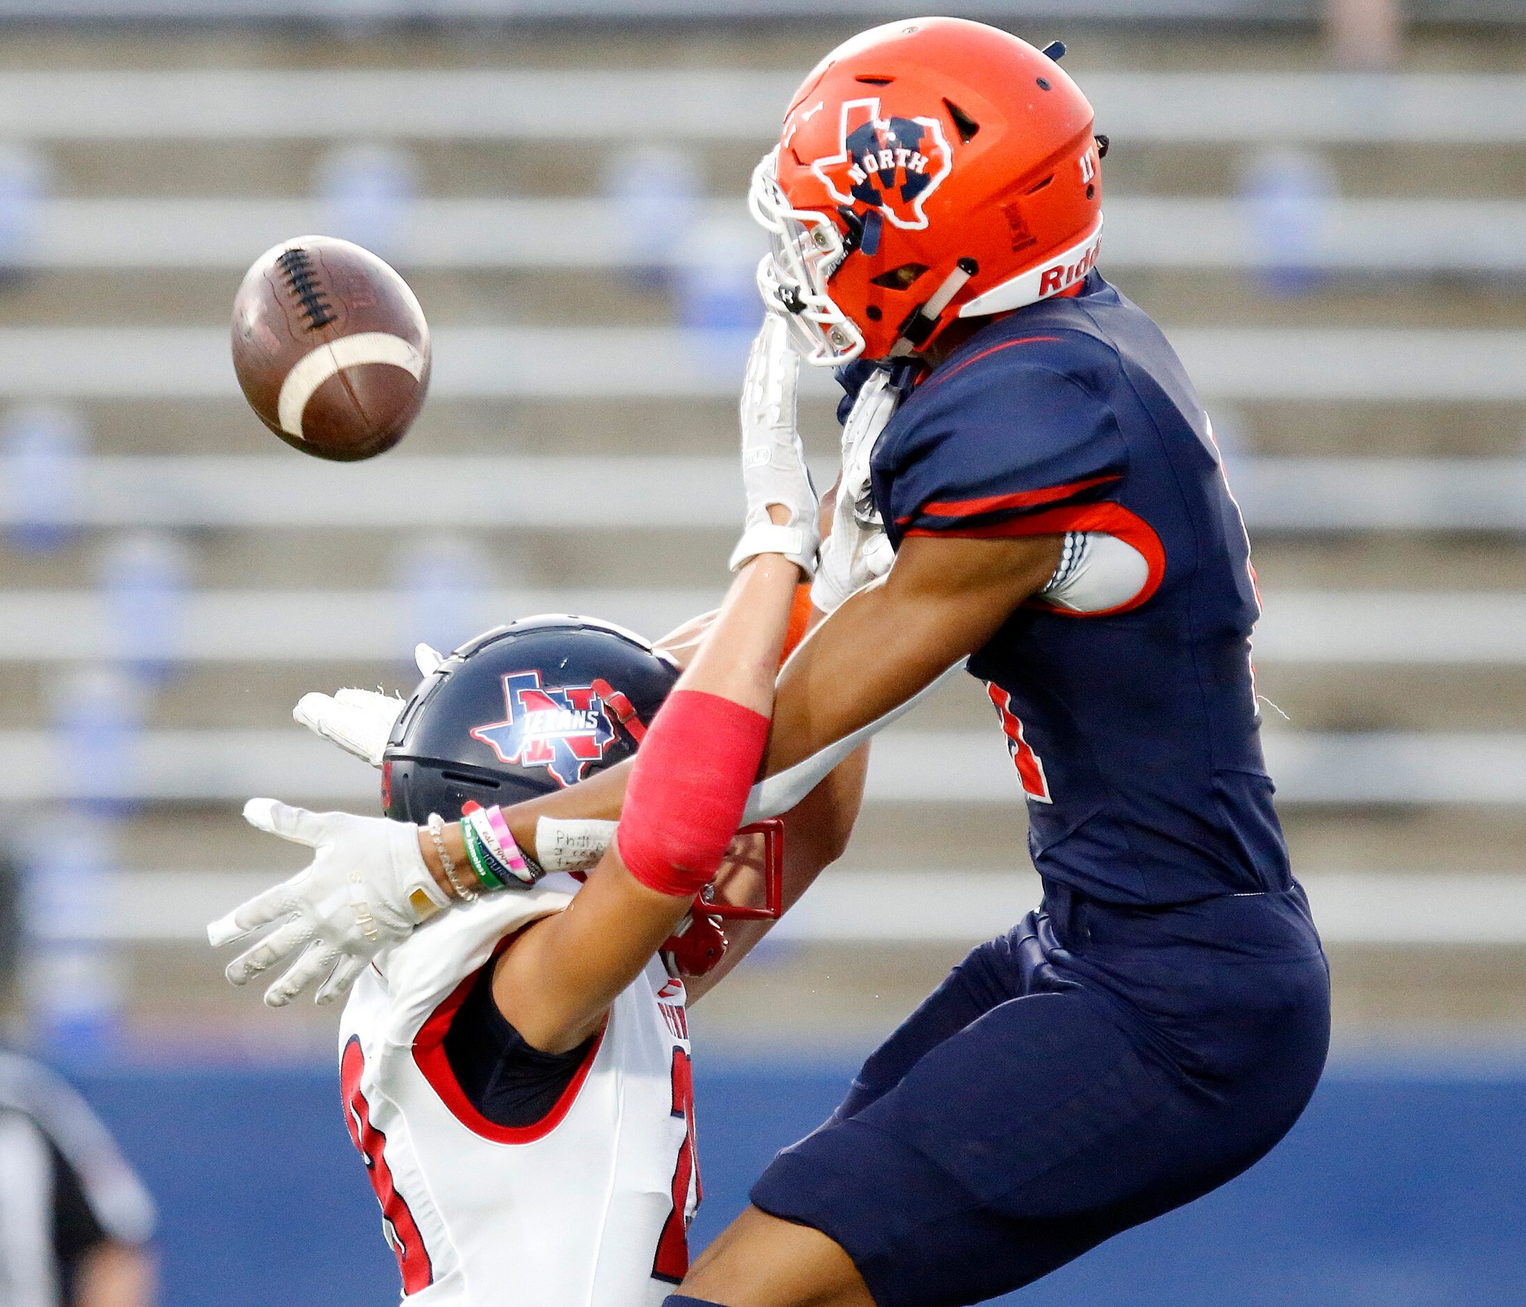
[[(758, 554), (783, 554), (810, 576), (816, 570), (816, 491), (806, 471), (806, 451), (795, 427), (795, 384), (800, 355), (778, 314), (763, 319), (742, 384), (742, 483), (748, 494), (746, 525), (731, 552), (736, 572)], [(769, 505), (789, 512), (774, 523)]]

